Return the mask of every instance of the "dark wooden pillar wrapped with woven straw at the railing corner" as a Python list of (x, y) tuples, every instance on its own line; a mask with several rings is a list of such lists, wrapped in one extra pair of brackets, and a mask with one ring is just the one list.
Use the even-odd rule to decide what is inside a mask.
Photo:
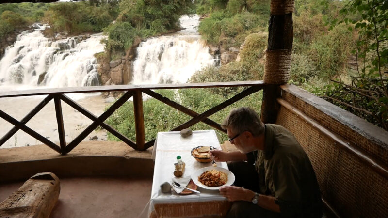
[(276, 98), (280, 97), (279, 85), (290, 78), (292, 53), (292, 12), (294, 0), (271, 0), (268, 26), (268, 46), (265, 55), (264, 83), (271, 84), (263, 90), (261, 120), (275, 123), (279, 109)]

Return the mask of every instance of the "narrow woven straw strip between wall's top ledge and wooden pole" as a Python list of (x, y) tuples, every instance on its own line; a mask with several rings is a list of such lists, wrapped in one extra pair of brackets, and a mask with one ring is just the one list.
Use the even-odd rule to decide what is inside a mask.
[(350, 141), (353, 145), (356, 145), (362, 150), (364, 150), (367, 154), (388, 165), (387, 148), (384, 148), (376, 144), (374, 141), (367, 139), (355, 130), (351, 129), (349, 126), (341, 124), (335, 118), (323, 113), (321, 110), (306, 103), (302, 99), (297, 98), (291, 93), (287, 93), (283, 90), (282, 98), (289, 102), (291, 105), (293, 105), (295, 108), (307, 114), (307, 116), (311, 117), (312, 119), (323, 125), (324, 127), (330, 129), (332, 132), (337, 133), (344, 139)]

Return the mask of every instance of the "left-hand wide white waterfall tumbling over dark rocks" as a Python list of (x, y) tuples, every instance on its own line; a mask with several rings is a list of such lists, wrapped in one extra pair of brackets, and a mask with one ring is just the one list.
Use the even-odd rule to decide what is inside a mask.
[(42, 34), (45, 25), (24, 31), (14, 45), (7, 47), (0, 60), (0, 86), (18, 89), (79, 87), (99, 85), (94, 54), (104, 50), (104, 36), (82, 40), (70, 37), (52, 41)]

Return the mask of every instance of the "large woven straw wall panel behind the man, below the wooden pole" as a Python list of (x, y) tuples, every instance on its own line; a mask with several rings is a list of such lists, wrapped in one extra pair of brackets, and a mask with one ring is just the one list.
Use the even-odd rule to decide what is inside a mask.
[(279, 110), (276, 124), (295, 135), (310, 158), (323, 197), (342, 216), (388, 214), (387, 179), (284, 107)]

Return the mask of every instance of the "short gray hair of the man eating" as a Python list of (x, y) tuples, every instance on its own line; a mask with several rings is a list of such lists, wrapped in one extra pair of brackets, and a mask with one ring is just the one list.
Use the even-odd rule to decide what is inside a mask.
[(249, 131), (253, 136), (259, 136), (264, 133), (264, 124), (261, 122), (259, 114), (248, 107), (232, 109), (222, 122), (221, 127), (230, 128), (236, 134)]

